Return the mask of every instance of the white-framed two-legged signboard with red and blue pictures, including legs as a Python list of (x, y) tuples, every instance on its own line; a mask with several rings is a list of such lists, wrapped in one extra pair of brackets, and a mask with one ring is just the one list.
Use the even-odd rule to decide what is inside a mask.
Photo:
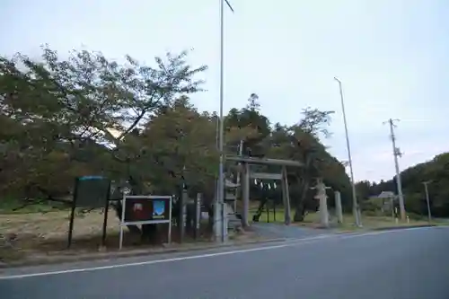
[(123, 246), (123, 227), (131, 224), (169, 224), (167, 242), (172, 241), (172, 197), (124, 195), (120, 218), (119, 249)]

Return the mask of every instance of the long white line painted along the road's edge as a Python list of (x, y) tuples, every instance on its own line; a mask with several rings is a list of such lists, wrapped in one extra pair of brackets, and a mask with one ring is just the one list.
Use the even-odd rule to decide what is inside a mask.
[(372, 232), (372, 233), (321, 234), (321, 235), (315, 236), (315, 237), (297, 239), (296, 241), (293, 241), (293, 240), (289, 241), (289, 242), (287, 241), (287, 242), (279, 244), (279, 245), (262, 246), (262, 247), (257, 247), (257, 248), (235, 250), (235, 251), (221, 251), (221, 252), (198, 254), (198, 255), (179, 257), (179, 258), (171, 258), (171, 259), (146, 260), (146, 261), (139, 261), (139, 262), (134, 262), (134, 263), (116, 264), (116, 265), (100, 266), (100, 267), (71, 268), (71, 269), (57, 270), (57, 271), (0, 276), (0, 280), (20, 279), (20, 278), (27, 278), (27, 277), (45, 277), (45, 276), (51, 276), (51, 275), (69, 274), (69, 273), (77, 273), (77, 272), (92, 272), (92, 271), (107, 270), (107, 269), (112, 269), (112, 268), (128, 268), (128, 267), (154, 265), (154, 264), (168, 263), (168, 262), (188, 260), (188, 259), (205, 259), (205, 258), (225, 256), (225, 255), (231, 255), (231, 254), (237, 254), (237, 253), (247, 253), (247, 252), (253, 252), (253, 251), (270, 251), (270, 250), (275, 250), (275, 249), (279, 249), (279, 248), (286, 248), (286, 247), (292, 247), (292, 246), (298, 246), (298, 245), (318, 242), (320, 240), (325, 240), (325, 239), (349, 239), (349, 238), (364, 237), (364, 236), (370, 236), (370, 235), (378, 235), (378, 234), (383, 234), (383, 233), (397, 233), (397, 232), (422, 230), (422, 229), (429, 229), (429, 228), (431, 228), (431, 227), (414, 227), (414, 228), (409, 228), (409, 229), (380, 231), (380, 232)]

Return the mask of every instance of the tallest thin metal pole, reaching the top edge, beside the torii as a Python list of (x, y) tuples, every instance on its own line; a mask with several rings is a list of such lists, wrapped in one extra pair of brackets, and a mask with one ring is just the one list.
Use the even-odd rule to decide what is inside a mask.
[(224, 144), (224, 120), (223, 119), (223, 101), (224, 101), (224, 40), (225, 40), (225, 0), (220, 1), (220, 128), (218, 134), (218, 152), (220, 153), (220, 163), (218, 166), (218, 198), (217, 204), (222, 206), (222, 219), (221, 219), (221, 227), (222, 227), (222, 242), (225, 242), (225, 188), (224, 188), (224, 153), (223, 153), (223, 144)]

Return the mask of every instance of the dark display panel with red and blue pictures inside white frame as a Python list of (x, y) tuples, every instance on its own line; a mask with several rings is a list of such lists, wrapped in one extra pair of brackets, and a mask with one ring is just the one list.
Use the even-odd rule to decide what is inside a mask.
[(170, 221), (170, 197), (127, 197), (125, 223)]

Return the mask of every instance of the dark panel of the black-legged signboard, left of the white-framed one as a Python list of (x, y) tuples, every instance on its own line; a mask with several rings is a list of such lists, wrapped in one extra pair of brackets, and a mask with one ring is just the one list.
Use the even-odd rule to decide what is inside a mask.
[(75, 207), (104, 207), (110, 195), (110, 180), (101, 176), (84, 176), (75, 180)]

